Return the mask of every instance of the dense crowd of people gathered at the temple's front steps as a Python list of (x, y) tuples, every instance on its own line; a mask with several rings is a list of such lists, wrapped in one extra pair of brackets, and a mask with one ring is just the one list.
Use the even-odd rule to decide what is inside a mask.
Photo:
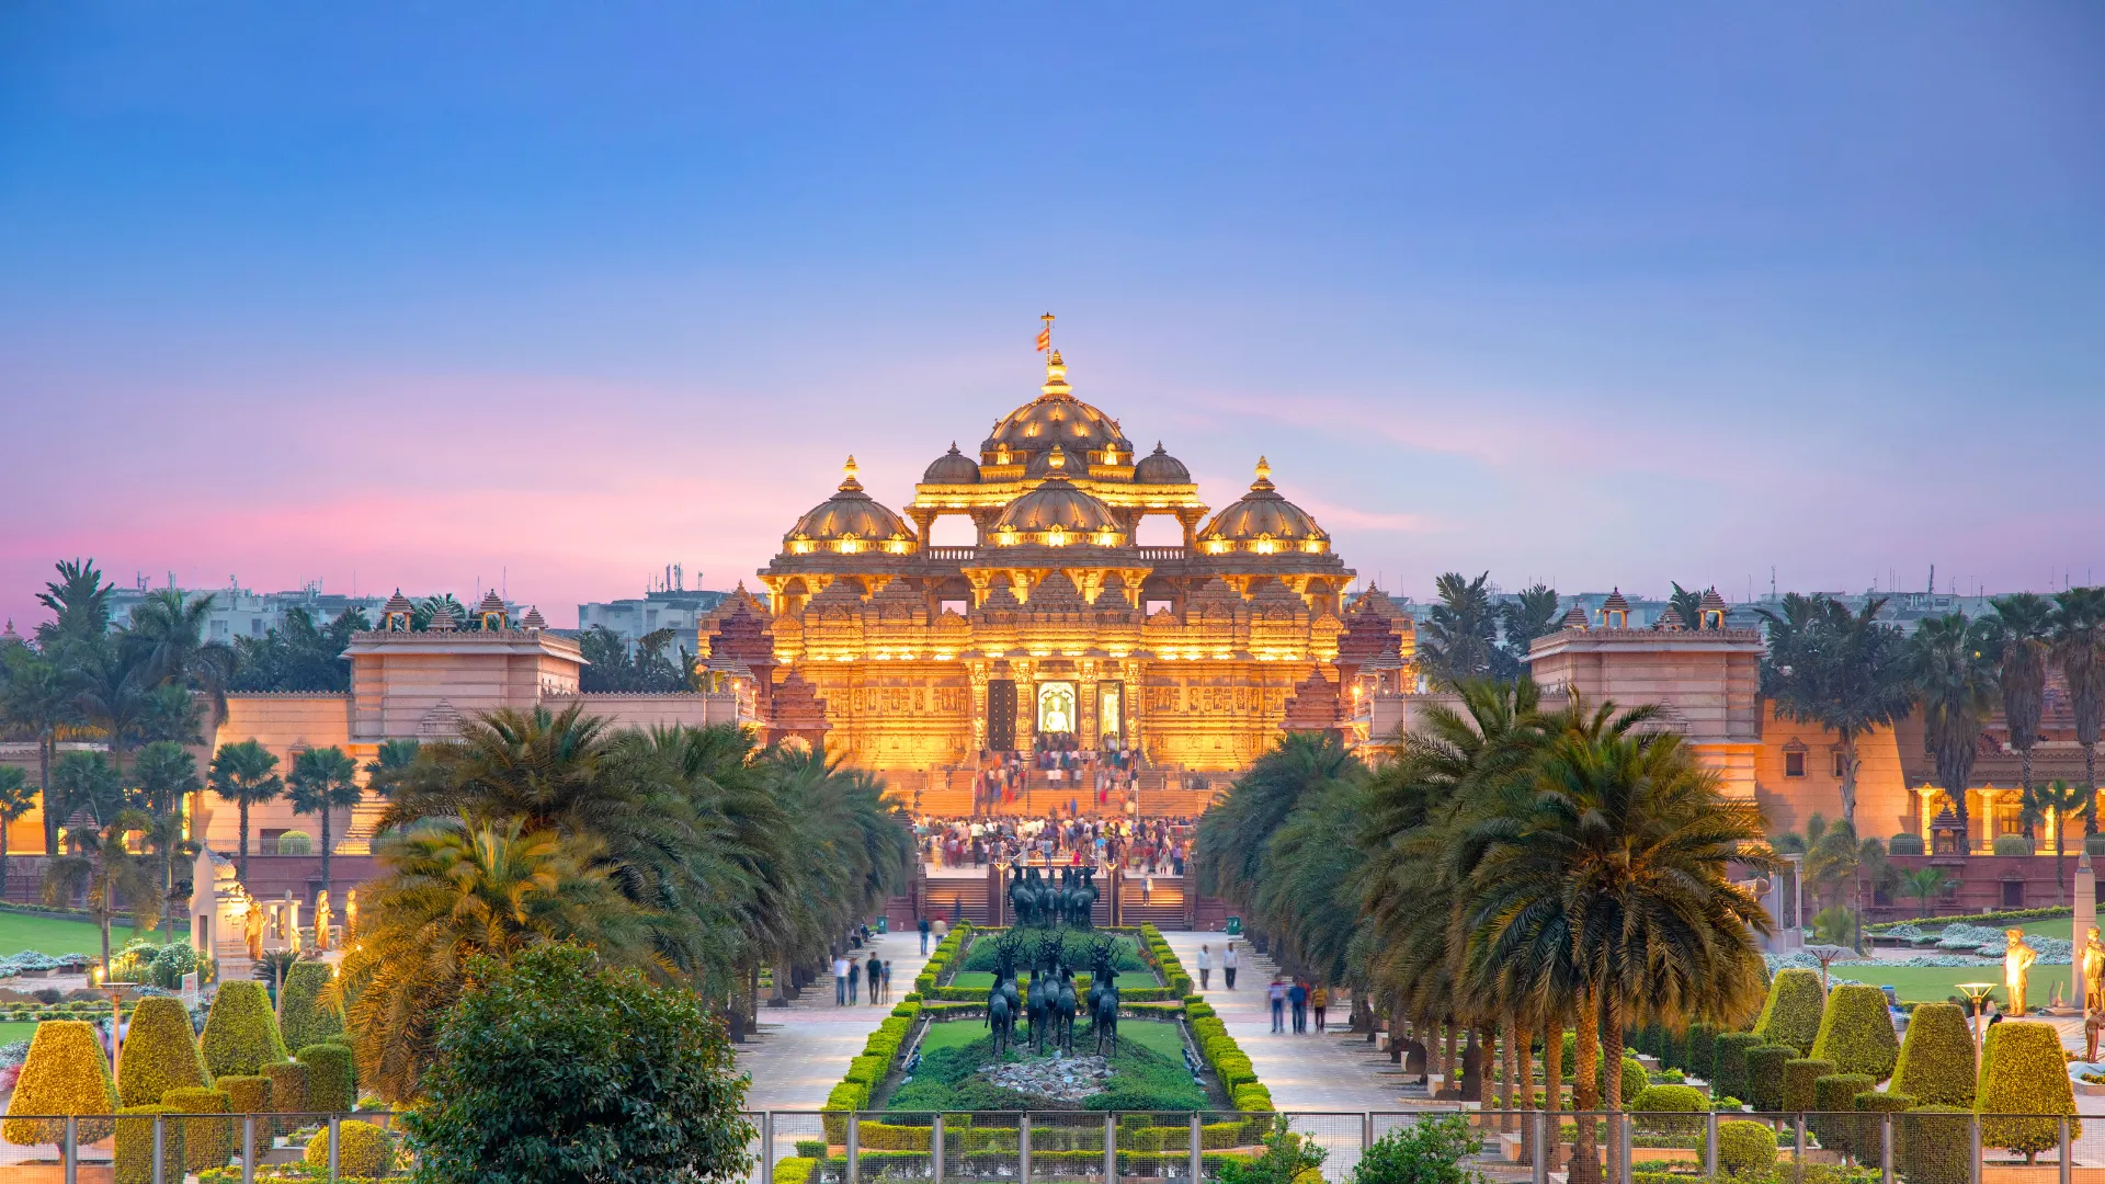
[(1191, 857), (1185, 817), (924, 817), (914, 832), (922, 857), (941, 868), (1023, 862), (1181, 876)]

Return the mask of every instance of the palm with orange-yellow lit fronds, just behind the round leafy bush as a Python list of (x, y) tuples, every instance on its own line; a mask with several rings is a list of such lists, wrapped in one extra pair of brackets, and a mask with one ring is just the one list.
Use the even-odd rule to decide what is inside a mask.
[(389, 1102), (417, 1098), (438, 1020), (480, 954), (581, 942), (610, 965), (663, 971), (648, 916), (594, 866), (589, 841), (520, 824), (425, 822), (381, 841), (358, 944), (330, 996), (349, 1005), (358, 1077)]

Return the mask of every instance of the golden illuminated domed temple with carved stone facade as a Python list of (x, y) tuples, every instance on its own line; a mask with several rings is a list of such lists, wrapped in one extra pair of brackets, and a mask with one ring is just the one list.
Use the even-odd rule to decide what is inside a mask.
[[(977, 541), (928, 546), (951, 514)], [(1139, 546), (1147, 516), (1175, 518), (1183, 544)], [(977, 455), (939, 455), (903, 514), (848, 457), (760, 569), (768, 605), (733, 596), (701, 643), (716, 659), (711, 628), (764, 615), (775, 691), (815, 693), (827, 750), (899, 788), (941, 790), (981, 752), (1040, 737), (1234, 771), (1282, 729), (1347, 731), (1362, 670), (1404, 685), (1410, 619), (1379, 594), (1345, 613), (1351, 577), (1263, 459), (1210, 512), (1162, 445), (1141, 455), (1074, 396), (1055, 350), (1038, 398)]]

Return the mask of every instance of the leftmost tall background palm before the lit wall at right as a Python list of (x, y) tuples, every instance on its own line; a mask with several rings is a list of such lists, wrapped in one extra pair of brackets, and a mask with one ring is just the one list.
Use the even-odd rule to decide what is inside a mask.
[(1884, 607), (1886, 598), (1873, 596), (1850, 613), (1831, 596), (1793, 594), (1783, 598), (1783, 613), (1762, 609), (1768, 619), (1762, 689), (1783, 718), (1836, 733), (1848, 822), (1857, 822), (1857, 739), (1907, 714), (1903, 636), (1878, 621)]

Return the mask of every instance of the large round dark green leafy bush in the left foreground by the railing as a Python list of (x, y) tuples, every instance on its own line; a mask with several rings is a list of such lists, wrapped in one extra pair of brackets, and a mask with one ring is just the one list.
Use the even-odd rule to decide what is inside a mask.
[[(446, 1013), (402, 1119), (427, 1184), (735, 1178), (756, 1131), (722, 1020), (686, 988), (608, 969), (558, 944), (509, 965)], [(608, 1104), (619, 1100), (619, 1104)], [(552, 1165), (562, 1169), (552, 1171)]]

